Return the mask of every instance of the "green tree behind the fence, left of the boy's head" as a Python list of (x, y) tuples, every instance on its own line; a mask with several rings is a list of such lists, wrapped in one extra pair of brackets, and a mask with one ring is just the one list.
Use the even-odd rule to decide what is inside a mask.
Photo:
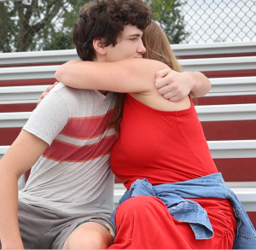
[(21, 0), (0, 3), (0, 51), (74, 48), (71, 31), (85, 1)]

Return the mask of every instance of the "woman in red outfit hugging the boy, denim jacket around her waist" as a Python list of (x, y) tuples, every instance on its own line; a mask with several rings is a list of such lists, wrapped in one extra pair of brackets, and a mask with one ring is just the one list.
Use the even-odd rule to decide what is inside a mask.
[[(154, 87), (156, 71), (180, 71), (164, 32), (153, 22), (143, 38), (152, 48), (144, 56), (157, 61), (74, 62), (55, 74), (74, 88), (128, 93), (120, 94), (114, 120), (120, 130), (111, 167), (127, 191), (113, 214), (117, 235), (110, 248), (230, 249), (233, 208), (242, 210), (241, 204), (218, 174), (191, 97), (169, 102)], [(254, 247), (239, 239), (245, 231), (253, 239), (253, 225), (246, 213), (236, 216), (242, 225), (234, 247)]]

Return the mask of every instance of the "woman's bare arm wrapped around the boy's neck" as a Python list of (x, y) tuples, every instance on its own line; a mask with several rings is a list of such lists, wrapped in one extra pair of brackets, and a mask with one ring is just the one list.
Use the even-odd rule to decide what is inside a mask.
[(55, 78), (78, 89), (122, 93), (156, 91), (155, 73), (168, 68), (160, 61), (134, 58), (116, 62), (70, 61), (61, 65)]

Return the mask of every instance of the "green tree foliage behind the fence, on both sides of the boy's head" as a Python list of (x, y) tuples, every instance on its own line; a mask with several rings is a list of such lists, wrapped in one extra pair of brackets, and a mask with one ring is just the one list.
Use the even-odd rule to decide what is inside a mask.
[[(90, 0), (0, 2), (0, 51), (73, 49), (72, 29), (79, 8)], [(172, 44), (186, 38), (178, 0), (145, 0)]]

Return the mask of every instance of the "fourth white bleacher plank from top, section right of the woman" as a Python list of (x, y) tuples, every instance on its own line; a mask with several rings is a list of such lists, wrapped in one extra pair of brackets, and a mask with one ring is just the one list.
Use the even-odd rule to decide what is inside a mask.
[(256, 103), (195, 106), (201, 121), (256, 119)]

